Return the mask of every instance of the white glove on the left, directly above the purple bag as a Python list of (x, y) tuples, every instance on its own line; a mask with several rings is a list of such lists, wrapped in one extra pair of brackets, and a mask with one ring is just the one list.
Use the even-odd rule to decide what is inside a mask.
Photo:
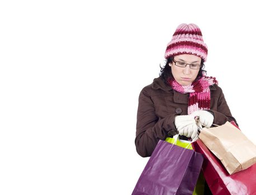
[(194, 116), (179, 115), (174, 119), (174, 124), (179, 131), (179, 135), (187, 136), (195, 139), (197, 135), (197, 124)]

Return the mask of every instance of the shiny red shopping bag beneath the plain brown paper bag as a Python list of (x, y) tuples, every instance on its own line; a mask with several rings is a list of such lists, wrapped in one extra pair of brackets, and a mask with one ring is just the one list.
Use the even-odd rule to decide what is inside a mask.
[(202, 171), (214, 195), (255, 195), (256, 164), (248, 169), (229, 174), (221, 161), (198, 139), (191, 143), (196, 152), (203, 154)]

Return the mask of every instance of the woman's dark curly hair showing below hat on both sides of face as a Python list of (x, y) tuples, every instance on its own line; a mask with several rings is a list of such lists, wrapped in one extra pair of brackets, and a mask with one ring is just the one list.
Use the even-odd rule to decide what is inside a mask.
[[(170, 78), (173, 78), (173, 75), (172, 75), (172, 68), (169, 66), (169, 63), (173, 61), (173, 58), (174, 57), (169, 57), (167, 60), (166, 60), (166, 63), (165, 63), (165, 66), (164, 67), (161, 67), (160, 65), (160, 73), (159, 73), (159, 76), (160, 78), (165, 82), (167, 83), (168, 79)], [(198, 72), (198, 75), (196, 77), (196, 80), (197, 79), (200, 79), (203, 75), (206, 75), (206, 70), (203, 70), (205, 68), (205, 64), (203, 64), (204, 60), (203, 58), (201, 58), (201, 68)]]

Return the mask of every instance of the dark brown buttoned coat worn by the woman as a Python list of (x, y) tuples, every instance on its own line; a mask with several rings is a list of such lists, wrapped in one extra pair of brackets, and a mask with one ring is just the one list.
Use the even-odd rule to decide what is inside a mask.
[[(214, 124), (236, 120), (230, 113), (224, 94), (217, 85), (210, 86)], [(141, 157), (149, 157), (159, 139), (177, 134), (174, 118), (187, 115), (189, 94), (181, 94), (158, 77), (140, 92), (136, 125), (136, 150)]]

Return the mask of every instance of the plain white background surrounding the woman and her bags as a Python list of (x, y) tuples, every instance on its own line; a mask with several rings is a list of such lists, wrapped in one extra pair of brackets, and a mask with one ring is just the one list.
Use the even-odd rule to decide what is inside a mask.
[(196, 23), (241, 130), (255, 138), (251, 1), (1, 1), (0, 194), (131, 194), (140, 90)]

